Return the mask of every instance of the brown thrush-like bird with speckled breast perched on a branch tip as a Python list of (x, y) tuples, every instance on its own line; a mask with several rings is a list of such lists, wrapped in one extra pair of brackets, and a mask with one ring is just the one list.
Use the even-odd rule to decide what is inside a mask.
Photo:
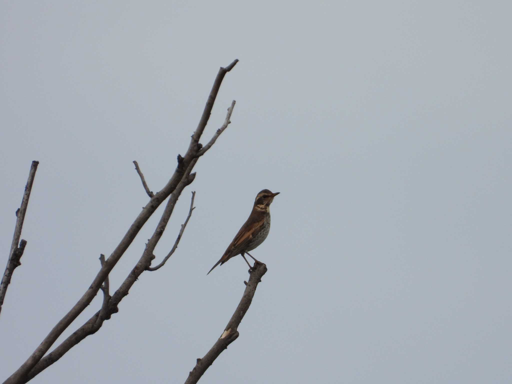
[(268, 189), (261, 190), (254, 199), (254, 206), (252, 207), (251, 214), (247, 221), (242, 225), (242, 228), (234, 237), (233, 241), (227, 247), (222, 255), (222, 258), (211, 267), (209, 274), (219, 264), (222, 265), (232, 257), (241, 254), (245, 262), (252, 269), (251, 265), (245, 258), (244, 254), (247, 253), (256, 263), (258, 260), (254, 259), (248, 251), (253, 250), (259, 246), (267, 238), (270, 231), (270, 204), (274, 197), (278, 196), (279, 192), (272, 193)]

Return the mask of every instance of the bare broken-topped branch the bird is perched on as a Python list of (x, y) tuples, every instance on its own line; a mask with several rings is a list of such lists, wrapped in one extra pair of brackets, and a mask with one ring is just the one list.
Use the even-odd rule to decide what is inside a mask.
[(208, 367), (213, 364), (215, 359), (222, 353), (222, 351), (224, 351), (229, 344), (238, 338), (238, 326), (244, 318), (245, 312), (247, 312), (249, 306), (251, 305), (252, 297), (256, 292), (258, 283), (261, 282), (261, 278), (266, 272), (267, 266), (265, 264), (259, 262), (254, 263), (249, 282), (246, 284), (244, 294), (242, 295), (242, 300), (240, 300), (237, 309), (231, 316), (226, 328), (224, 328), (224, 332), (222, 333), (221, 337), (217, 339), (217, 342), (215, 342), (214, 346), (211, 347), (211, 349), (206, 353), (206, 355), (204, 355), (202, 359), (197, 359), (197, 364), (188, 374), (188, 378), (186, 379), (185, 384), (194, 384), (198, 382), (204, 372), (206, 372)]

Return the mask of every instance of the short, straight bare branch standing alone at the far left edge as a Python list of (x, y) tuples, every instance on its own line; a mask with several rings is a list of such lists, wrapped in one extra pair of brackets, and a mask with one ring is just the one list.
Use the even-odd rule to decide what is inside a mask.
[[(27, 241), (19, 241), (22, 236), (23, 222), (25, 220), (25, 214), (27, 212), (27, 206), (29, 205), (30, 192), (32, 191), (32, 184), (34, 183), (35, 172), (37, 170), (38, 161), (32, 161), (30, 166), (29, 178), (27, 185), (25, 185), (25, 193), (23, 194), (22, 205), (16, 210), (16, 225), (14, 226), (14, 235), (12, 237), (11, 251), (9, 252), (9, 259), (7, 259), (7, 266), (5, 267), (4, 275), (2, 276), (2, 282), (0, 283), (0, 312), (2, 312), (2, 305), (4, 304), (5, 294), (7, 293), (7, 287), (11, 283), (12, 274), (16, 267), (22, 265), (19, 259), (22, 258), (23, 252)], [(19, 243), (19, 247), (18, 247)]]

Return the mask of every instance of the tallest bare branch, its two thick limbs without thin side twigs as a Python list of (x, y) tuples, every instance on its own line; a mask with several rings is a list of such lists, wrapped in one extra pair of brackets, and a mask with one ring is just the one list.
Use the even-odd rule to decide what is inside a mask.
[[(134, 241), (142, 226), (153, 215), (153, 213), (160, 206), (160, 204), (167, 197), (169, 197), (169, 195), (171, 195), (169, 201), (167, 202), (167, 206), (164, 210), (164, 214), (162, 215), (160, 222), (157, 226), (157, 229), (155, 230), (155, 233), (153, 234), (150, 241), (148, 241), (146, 248), (141, 258), (139, 259), (137, 265), (133, 268), (130, 275), (125, 279), (125, 281), (121, 284), (119, 289), (111, 297), (109, 302), (109, 310), (105, 315), (109, 316), (110, 313), (117, 312), (117, 304), (122, 300), (124, 296), (128, 294), (128, 290), (135, 283), (138, 276), (146, 269), (146, 267), (151, 265), (151, 260), (154, 259), (153, 251), (155, 249), (155, 246), (157, 245), (158, 241), (162, 236), (163, 230), (167, 225), (170, 214), (172, 214), (174, 205), (176, 204), (176, 201), (178, 200), (181, 191), (186, 185), (194, 181), (196, 174), (191, 173), (191, 171), (198, 160), (197, 152), (201, 150), (202, 147), (202, 145), (199, 143), (199, 140), (206, 127), (206, 123), (208, 122), (208, 118), (210, 116), (211, 109), (217, 97), (217, 93), (220, 89), (222, 80), (225, 74), (229, 72), (234, 67), (234, 65), (236, 65), (237, 62), (238, 59), (234, 60), (228, 67), (221, 68), (219, 70), (217, 77), (214, 81), (214, 86), (212, 87), (210, 94), (208, 96), (208, 100), (206, 102), (205, 109), (199, 121), (198, 127), (194, 134), (191, 136), (190, 144), (188, 145), (188, 149), (185, 153), (185, 156), (182, 157), (181, 155), (178, 155), (178, 165), (175, 169), (174, 174), (169, 179), (167, 184), (162, 188), (162, 190), (155, 194), (153, 198), (142, 208), (140, 214), (137, 216), (137, 218), (132, 223), (130, 228), (126, 231), (124, 237), (117, 245), (117, 247), (114, 249), (109, 258), (105, 260), (100, 271), (94, 278), (93, 282), (91, 283), (87, 291), (82, 295), (80, 300), (78, 300), (78, 302), (73, 306), (73, 308), (71, 308), (71, 310), (60, 319), (60, 321), (53, 327), (53, 329), (45, 337), (45, 339), (42, 340), (42, 342), (29, 356), (29, 358), (24, 362), (24, 364), (22, 364), (22, 366), (20, 366), (16, 370), (16, 372), (14, 372), (9, 378), (7, 378), (4, 384), (17, 384), (20, 382), (27, 382), (37, 373), (41, 372), (43, 369), (53, 364), (53, 362), (57, 361), (64, 353), (66, 353), (74, 345), (78, 344), (83, 338), (97, 331), (99, 326), (101, 326), (102, 324), (102, 321), (97, 323), (100, 311), (98, 311), (97, 314), (91, 317), (86, 324), (84, 324), (71, 336), (64, 340), (64, 342), (62, 342), (53, 352), (45, 356), (45, 354), (48, 352), (51, 346), (55, 343), (55, 340), (62, 334), (63, 331), (65, 331), (70, 326), (74, 319), (91, 303), (91, 301), (97, 294), (98, 290), (104, 283), (109, 273), (112, 271), (114, 266), (122, 257), (126, 249)], [(45, 357), (43, 358), (43, 356)]]

